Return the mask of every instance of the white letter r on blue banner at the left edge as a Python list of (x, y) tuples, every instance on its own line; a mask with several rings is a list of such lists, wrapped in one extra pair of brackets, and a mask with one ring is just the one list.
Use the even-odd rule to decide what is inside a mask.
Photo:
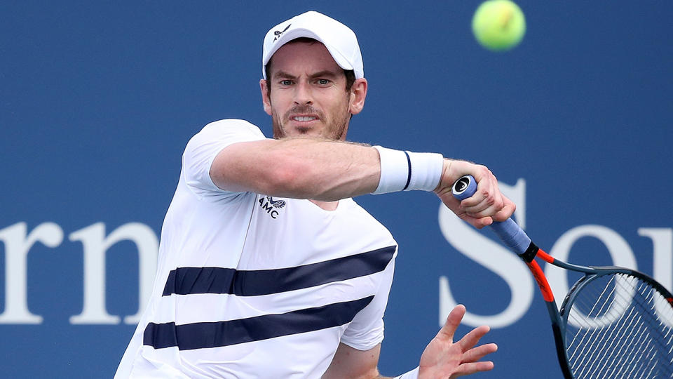
[(63, 241), (63, 230), (53, 222), (43, 222), (27, 234), (25, 222), (0, 230), (5, 245), (5, 310), (0, 324), (41, 324), (42, 317), (28, 310), (26, 264), (28, 252), (36, 243), (53, 248)]

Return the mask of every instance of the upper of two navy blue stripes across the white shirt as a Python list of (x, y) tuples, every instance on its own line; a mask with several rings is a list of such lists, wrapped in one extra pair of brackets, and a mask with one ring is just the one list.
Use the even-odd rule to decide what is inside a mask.
[(229, 293), (268, 295), (375, 274), (386, 269), (395, 246), (297, 267), (235, 270), (222, 267), (178, 267), (168, 274), (163, 295)]

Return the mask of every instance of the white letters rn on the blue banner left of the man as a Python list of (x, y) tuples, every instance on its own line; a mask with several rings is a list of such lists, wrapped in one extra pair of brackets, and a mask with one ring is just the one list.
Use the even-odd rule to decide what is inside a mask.
[[(138, 312), (124, 317), (125, 324), (137, 324), (144, 306), (151, 295), (158, 239), (147, 225), (130, 222), (121, 225), (105, 237), (105, 225), (97, 222), (69, 235), (70, 241), (81, 241), (84, 260), (84, 299), (81, 314), (70, 317), (71, 324), (119, 324), (120, 317), (111, 315), (105, 308), (105, 255), (120, 241), (132, 241), (138, 248)], [(63, 230), (53, 222), (44, 222), (27, 235), (25, 222), (0, 230), (0, 241), (5, 246), (6, 281), (5, 310), (0, 314), (0, 324), (41, 324), (42, 317), (29, 312), (27, 307), (26, 257), (37, 242), (55, 248), (63, 241)]]

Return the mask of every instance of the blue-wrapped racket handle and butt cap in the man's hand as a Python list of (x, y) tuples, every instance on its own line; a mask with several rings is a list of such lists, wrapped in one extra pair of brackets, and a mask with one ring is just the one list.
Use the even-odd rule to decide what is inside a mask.
[[(458, 200), (468, 199), (477, 192), (477, 180), (472, 175), (465, 175), (456, 180), (451, 192)], [(517, 254), (523, 254), (531, 244), (531, 239), (514, 220), (494, 221), (491, 228), (503, 243)]]

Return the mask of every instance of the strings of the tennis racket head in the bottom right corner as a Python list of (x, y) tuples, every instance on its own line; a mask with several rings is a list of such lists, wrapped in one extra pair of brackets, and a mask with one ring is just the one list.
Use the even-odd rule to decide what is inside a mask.
[(576, 379), (673, 378), (673, 307), (637, 277), (608, 274), (581, 287), (565, 337)]

